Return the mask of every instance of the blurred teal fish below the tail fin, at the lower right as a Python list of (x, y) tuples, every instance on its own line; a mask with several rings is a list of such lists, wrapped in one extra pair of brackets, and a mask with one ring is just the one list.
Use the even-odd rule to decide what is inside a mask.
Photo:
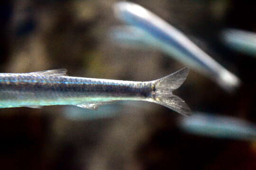
[(233, 117), (198, 112), (179, 119), (178, 125), (196, 135), (256, 141), (256, 125)]

